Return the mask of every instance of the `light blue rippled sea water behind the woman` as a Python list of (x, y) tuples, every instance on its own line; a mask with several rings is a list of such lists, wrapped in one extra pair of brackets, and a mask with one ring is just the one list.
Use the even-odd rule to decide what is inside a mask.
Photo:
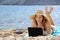
[[(0, 5), (0, 29), (16, 29), (31, 27), (30, 16), (35, 14), (37, 10), (45, 12), (46, 6), (7, 6)], [(50, 9), (51, 6), (48, 6)], [(60, 26), (60, 6), (53, 6), (54, 10), (50, 14), (55, 25)]]

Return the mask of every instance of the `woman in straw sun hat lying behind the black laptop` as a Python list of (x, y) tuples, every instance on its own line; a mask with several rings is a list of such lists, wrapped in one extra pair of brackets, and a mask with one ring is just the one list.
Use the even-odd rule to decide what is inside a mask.
[[(50, 10), (51, 11), (51, 10)], [(32, 27), (40, 27), (43, 29), (44, 34), (51, 33), (51, 20), (50, 14), (48, 15), (48, 11), (46, 8), (46, 14), (48, 17), (44, 16), (42, 10), (38, 10), (35, 15), (32, 15), (30, 18), (32, 19)], [(53, 23), (53, 22), (52, 22)]]

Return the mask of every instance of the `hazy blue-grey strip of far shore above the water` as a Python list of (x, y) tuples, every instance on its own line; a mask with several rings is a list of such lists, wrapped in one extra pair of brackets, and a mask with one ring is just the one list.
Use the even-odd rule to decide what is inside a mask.
[(0, 5), (60, 5), (60, 0), (0, 0)]

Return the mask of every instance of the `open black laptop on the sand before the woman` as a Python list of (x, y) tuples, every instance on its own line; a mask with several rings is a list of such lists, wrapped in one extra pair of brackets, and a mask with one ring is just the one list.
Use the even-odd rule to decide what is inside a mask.
[(34, 28), (34, 27), (28, 27), (28, 35), (32, 37), (36, 36), (42, 36), (43, 35), (43, 30), (42, 28)]

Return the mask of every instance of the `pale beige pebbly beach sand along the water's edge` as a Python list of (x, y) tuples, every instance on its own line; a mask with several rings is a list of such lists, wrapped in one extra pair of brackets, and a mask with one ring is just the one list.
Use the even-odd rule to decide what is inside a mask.
[[(0, 32), (0, 40), (60, 40), (60, 36), (37, 36), (37, 37), (25, 37), (28, 33), (27, 29), (24, 29), (22, 34), (16, 34), (15, 30), (5, 30)], [(21, 30), (21, 29), (20, 29)]]

